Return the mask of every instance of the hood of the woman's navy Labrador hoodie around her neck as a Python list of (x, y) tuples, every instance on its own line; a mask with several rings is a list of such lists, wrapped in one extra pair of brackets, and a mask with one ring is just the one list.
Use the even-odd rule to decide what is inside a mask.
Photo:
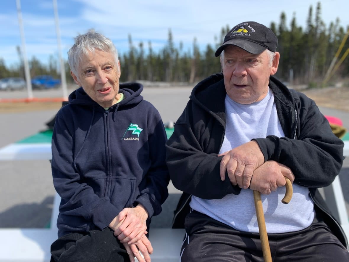
[[(119, 87), (119, 93), (124, 94), (124, 99), (118, 103), (122, 106), (125, 104), (138, 104), (143, 100), (141, 92), (143, 86), (140, 83), (122, 83)], [(80, 105), (92, 105), (92, 106), (101, 106), (97, 102), (91, 99), (88, 94), (84, 91), (82, 87), (74, 90), (68, 97), (70, 104), (80, 104)], [(112, 105), (114, 107), (115, 105)]]

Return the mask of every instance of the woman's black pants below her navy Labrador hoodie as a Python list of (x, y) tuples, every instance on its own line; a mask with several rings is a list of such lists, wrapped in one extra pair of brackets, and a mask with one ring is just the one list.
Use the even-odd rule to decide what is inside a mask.
[(124, 245), (107, 227), (88, 233), (70, 233), (51, 245), (51, 262), (125, 262), (130, 261)]

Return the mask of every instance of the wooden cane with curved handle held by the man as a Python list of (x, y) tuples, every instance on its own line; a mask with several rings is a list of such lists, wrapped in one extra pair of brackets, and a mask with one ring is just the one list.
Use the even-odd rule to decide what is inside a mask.
[[(286, 185), (285, 185), (286, 194), (285, 194), (284, 198), (281, 200), (281, 202), (284, 204), (288, 204), (292, 198), (293, 188), (292, 188), (291, 181), (287, 177), (285, 177), (285, 179), (286, 179)], [(258, 222), (259, 236), (260, 236), (261, 244), (262, 244), (263, 258), (264, 258), (265, 262), (272, 262), (272, 255), (270, 253), (267, 228), (265, 226), (265, 218), (264, 218), (264, 212), (263, 212), (262, 199), (261, 199), (260, 192), (257, 190), (253, 190), (253, 197), (254, 197), (254, 205), (256, 208), (256, 216), (257, 216), (257, 222)]]

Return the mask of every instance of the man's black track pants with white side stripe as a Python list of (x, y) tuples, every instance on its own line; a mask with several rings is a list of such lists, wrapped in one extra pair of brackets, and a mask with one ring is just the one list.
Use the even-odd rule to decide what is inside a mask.
[[(193, 211), (185, 219), (181, 262), (263, 262), (258, 233), (240, 232)], [(348, 262), (348, 250), (323, 221), (304, 230), (268, 234), (274, 262)]]

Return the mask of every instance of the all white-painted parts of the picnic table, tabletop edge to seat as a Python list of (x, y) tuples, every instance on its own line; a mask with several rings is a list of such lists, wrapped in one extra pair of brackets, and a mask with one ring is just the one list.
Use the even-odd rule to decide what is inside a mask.
[[(349, 157), (349, 141), (344, 141), (344, 155)], [(0, 160), (50, 159), (51, 145), (11, 144), (0, 148)], [(349, 236), (349, 221), (340, 179), (332, 183), (332, 192), (326, 194), (326, 202), (333, 199), (344, 232)], [(328, 191), (328, 190), (327, 190)], [(326, 191), (325, 191), (326, 193)], [(0, 228), (0, 262), (43, 262), (50, 261), (50, 246), (57, 239), (57, 217), (60, 197), (55, 195), (51, 228)], [(183, 229), (151, 228), (149, 239), (154, 248), (152, 262), (178, 262)]]

